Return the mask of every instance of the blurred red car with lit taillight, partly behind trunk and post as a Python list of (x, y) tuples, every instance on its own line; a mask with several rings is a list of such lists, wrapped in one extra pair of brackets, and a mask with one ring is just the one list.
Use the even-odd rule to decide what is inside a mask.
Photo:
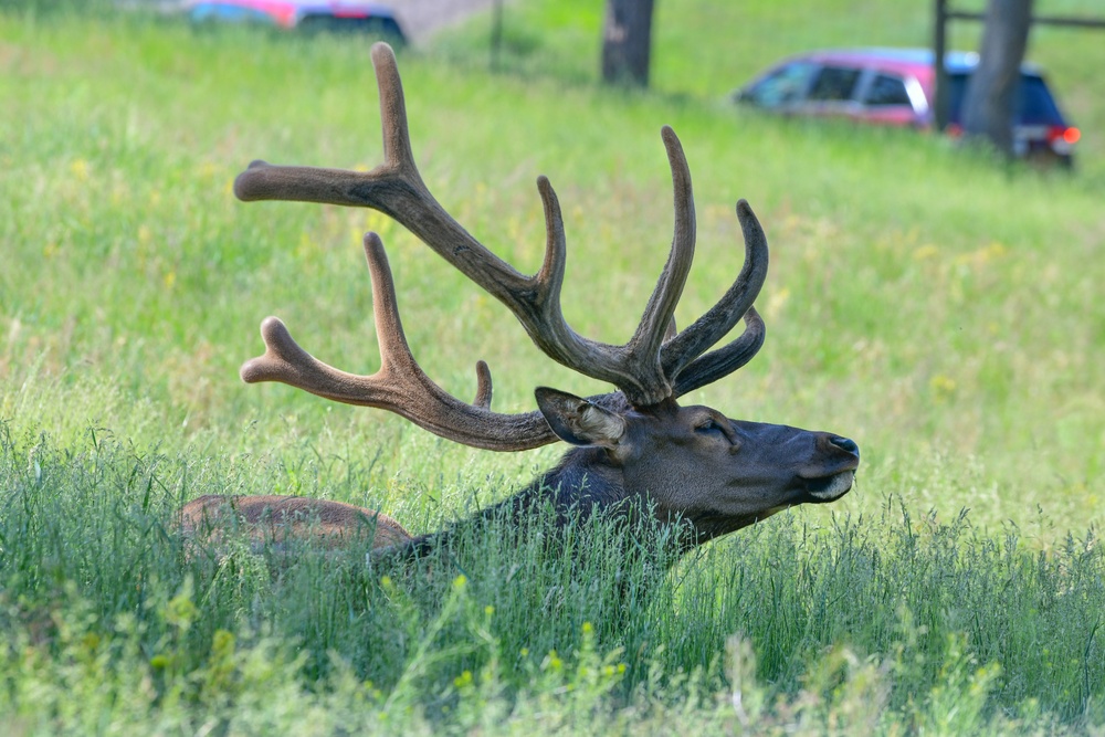
[[(944, 65), (948, 72), (948, 133), (960, 135), (964, 95), (978, 66), (978, 54), (950, 52)], [(792, 56), (737, 90), (733, 97), (786, 115), (930, 128), (935, 87), (932, 50), (828, 50)], [(1067, 123), (1034, 64), (1021, 66), (1014, 109), (1014, 152), (1069, 166), (1081, 133)]]

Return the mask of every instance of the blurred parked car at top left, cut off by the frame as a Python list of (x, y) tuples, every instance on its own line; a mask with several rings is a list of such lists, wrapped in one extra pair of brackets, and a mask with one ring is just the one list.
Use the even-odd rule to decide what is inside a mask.
[(364, 32), (404, 41), (390, 8), (356, 0), (189, 0), (188, 17), (202, 22), (253, 22), (303, 31)]

